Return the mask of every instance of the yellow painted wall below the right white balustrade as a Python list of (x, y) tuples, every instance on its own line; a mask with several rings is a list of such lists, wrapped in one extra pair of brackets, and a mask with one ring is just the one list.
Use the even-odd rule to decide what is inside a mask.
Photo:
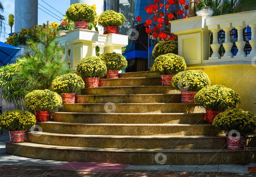
[(256, 67), (250, 64), (229, 64), (187, 67), (204, 71), (212, 85), (223, 85), (240, 93), (242, 103), (238, 108), (256, 114)]

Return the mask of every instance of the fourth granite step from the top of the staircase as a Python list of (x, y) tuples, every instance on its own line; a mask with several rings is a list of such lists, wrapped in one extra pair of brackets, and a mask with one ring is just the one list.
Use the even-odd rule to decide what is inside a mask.
[(181, 103), (181, 94), (77, 95), (76, 103)]

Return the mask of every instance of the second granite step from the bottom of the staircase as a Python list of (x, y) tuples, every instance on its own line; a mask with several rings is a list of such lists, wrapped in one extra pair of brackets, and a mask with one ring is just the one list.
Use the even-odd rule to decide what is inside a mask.
[(28, 132), (27, 142), (58, 146), (125, 149), (227, 148), (225, 136), (121, 136)]

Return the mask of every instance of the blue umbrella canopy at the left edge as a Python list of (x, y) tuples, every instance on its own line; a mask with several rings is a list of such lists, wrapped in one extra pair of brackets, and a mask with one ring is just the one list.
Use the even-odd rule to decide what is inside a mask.
[(0, 42), (0, 66), (7, 65), (19, 50), (21, 48)]

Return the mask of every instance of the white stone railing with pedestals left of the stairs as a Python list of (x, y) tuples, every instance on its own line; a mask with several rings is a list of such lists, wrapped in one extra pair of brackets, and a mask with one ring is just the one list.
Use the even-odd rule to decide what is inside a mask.
[(100, 54), (106, 52), (122, 54), (122, 47), (128, 44), (128, 36), (113, 33), (98, 34), (97, 31), (76, 29), (58, 37), (58, 42), (58, 45), (65, 49), (65, 60), (70, 61), (71, 66), (76, 70), (77, 63), (82, 58), (96, 56), (96, 46), (100, 48)]

